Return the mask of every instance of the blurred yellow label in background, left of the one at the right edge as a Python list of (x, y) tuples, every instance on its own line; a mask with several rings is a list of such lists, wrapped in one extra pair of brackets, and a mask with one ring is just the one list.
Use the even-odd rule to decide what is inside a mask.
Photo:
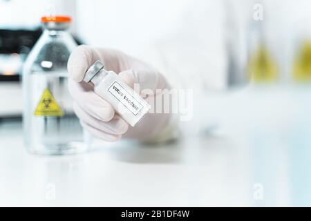
[(255, 82), (272, 82), (278, 78), (278, 67), (269, 50), (259, 45), (248, 64), (249, 78)]

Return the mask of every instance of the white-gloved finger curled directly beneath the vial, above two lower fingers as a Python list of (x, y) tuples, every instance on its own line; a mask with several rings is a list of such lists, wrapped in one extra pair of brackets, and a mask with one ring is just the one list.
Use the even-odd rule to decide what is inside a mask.
[(113, 106), (106, 102), (102, 97), (96, 95), (93, 86), (85, 82), (77, 83), (69, 79), (68, 90), (75, 102), (86, 113), (104, 122), (113, 119), (115, 111)]

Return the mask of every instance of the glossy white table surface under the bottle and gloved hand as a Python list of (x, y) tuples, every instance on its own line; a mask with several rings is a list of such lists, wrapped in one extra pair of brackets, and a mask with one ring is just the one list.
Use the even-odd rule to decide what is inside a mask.
[[(218, 111), (209, 116), (216, 119), (212, 113)], [(240, 116), (232, 113), (231, 119)], [(171, 144), (96, 141), (90, 153), (65, 156), (30, 155), (21, 122), (2, 123), (0, 206), (311, 205), (305, 192), (311, 182), (310, 139), (291, 143), (270, 124), (251, 124), (259, 127), (247, 126), (239, 135), (194, 131), (201, 121), (202, 115), (194, 117), (187, 129), (192, 133), (183, 131)], [(295, 145), (298, 151), (292, 152)]]

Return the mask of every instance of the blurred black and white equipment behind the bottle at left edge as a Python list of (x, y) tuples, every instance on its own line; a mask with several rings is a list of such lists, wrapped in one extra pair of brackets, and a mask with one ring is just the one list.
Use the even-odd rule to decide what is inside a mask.
[(40, 35), (41, 30), (37, 28), (0, 29), (0, 94), (10, 95), (1, 99), (0, 117), (21, 115), (21, 69), (28, 52)]

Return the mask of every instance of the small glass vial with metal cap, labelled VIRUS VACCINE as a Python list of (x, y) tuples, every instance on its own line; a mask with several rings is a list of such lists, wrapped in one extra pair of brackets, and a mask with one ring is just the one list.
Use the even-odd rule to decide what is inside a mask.
[(104, 64), (100, 61), (96, 61), (88, 68), (83, 80), (87, 83), (91, 82), (95, 93), (109, 102), (131, 126), (135, 126), (151, 108), (116, 73), (105, 70)]

